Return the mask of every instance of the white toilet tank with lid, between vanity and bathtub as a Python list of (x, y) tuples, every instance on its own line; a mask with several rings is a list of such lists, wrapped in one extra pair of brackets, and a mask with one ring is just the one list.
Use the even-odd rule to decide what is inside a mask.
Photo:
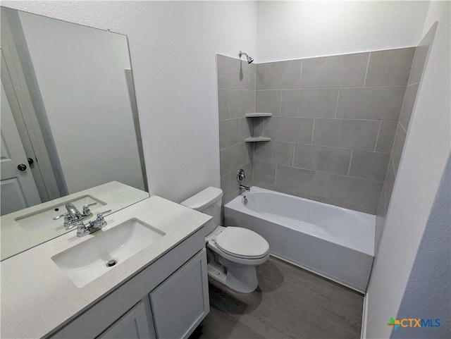
[(216, 226), (221, 225), (221, 200), (223, 191), (216, 187), (207, 187), (196, 195), (180, 202), (183, 206), (213, 217), (213, 222), (206, 226), (206, 234), (213, 232)]

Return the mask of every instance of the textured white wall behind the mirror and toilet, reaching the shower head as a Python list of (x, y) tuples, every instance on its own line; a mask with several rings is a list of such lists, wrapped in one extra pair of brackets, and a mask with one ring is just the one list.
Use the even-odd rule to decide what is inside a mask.
[(194, 1), (2, 1), (128, 36), (152, 194), (180, 202), (219, 187), (215, 54), (256, 51), (257, 4)]

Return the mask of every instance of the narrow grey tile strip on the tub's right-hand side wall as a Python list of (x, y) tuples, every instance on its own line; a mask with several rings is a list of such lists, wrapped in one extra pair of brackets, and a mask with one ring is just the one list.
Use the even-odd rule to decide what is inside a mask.
[[(421, 82), (421, 75), (423, 74), (429, 47), (431, 46), (434, 35), (435, 24), (421, 40), (419, 46), (416, 47), (414, 61), (407, 80), (407, 89), (404, 95), (404, 101), (402, 102), (400, 118), (395, 125), (390, 125), (387, 127), (390, 129), (390, 133), (393, 133), (393, 130), (396, 130), (396, 132), (395, 140), (390, 153), (388, 169), (385, 175), (385, 181), (383, 183), (383, 190), (378, 202), (378, 209), (376, 213), (376, 237), (374, 247), (376, 252), (379, 241), (381, 240), (383, 228), (385, 226), (385, 216), (387, 215), (393, 187), (395, 185), (397, 170), (400, 166), (402, 149), (404, 148), (404, 142), (407, 137), (407, 130), (409, 128), (410, 118), (412, 117), (412, 111), (414, 109), (416, 93), (418, 92)], [(383, 149), (388, 149), (388, 144), (383, 145)]]

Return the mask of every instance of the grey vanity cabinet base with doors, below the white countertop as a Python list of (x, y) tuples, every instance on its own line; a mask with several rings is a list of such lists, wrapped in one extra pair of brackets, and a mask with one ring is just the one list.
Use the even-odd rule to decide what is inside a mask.
[(187, 338), (208, 313), (201, 229), (47, 338)]

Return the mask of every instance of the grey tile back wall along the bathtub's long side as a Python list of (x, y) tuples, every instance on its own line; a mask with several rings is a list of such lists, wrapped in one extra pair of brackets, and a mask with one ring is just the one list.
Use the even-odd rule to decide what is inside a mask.
[(254, 185), (376, 214), (414, 53), (257, 64)]

